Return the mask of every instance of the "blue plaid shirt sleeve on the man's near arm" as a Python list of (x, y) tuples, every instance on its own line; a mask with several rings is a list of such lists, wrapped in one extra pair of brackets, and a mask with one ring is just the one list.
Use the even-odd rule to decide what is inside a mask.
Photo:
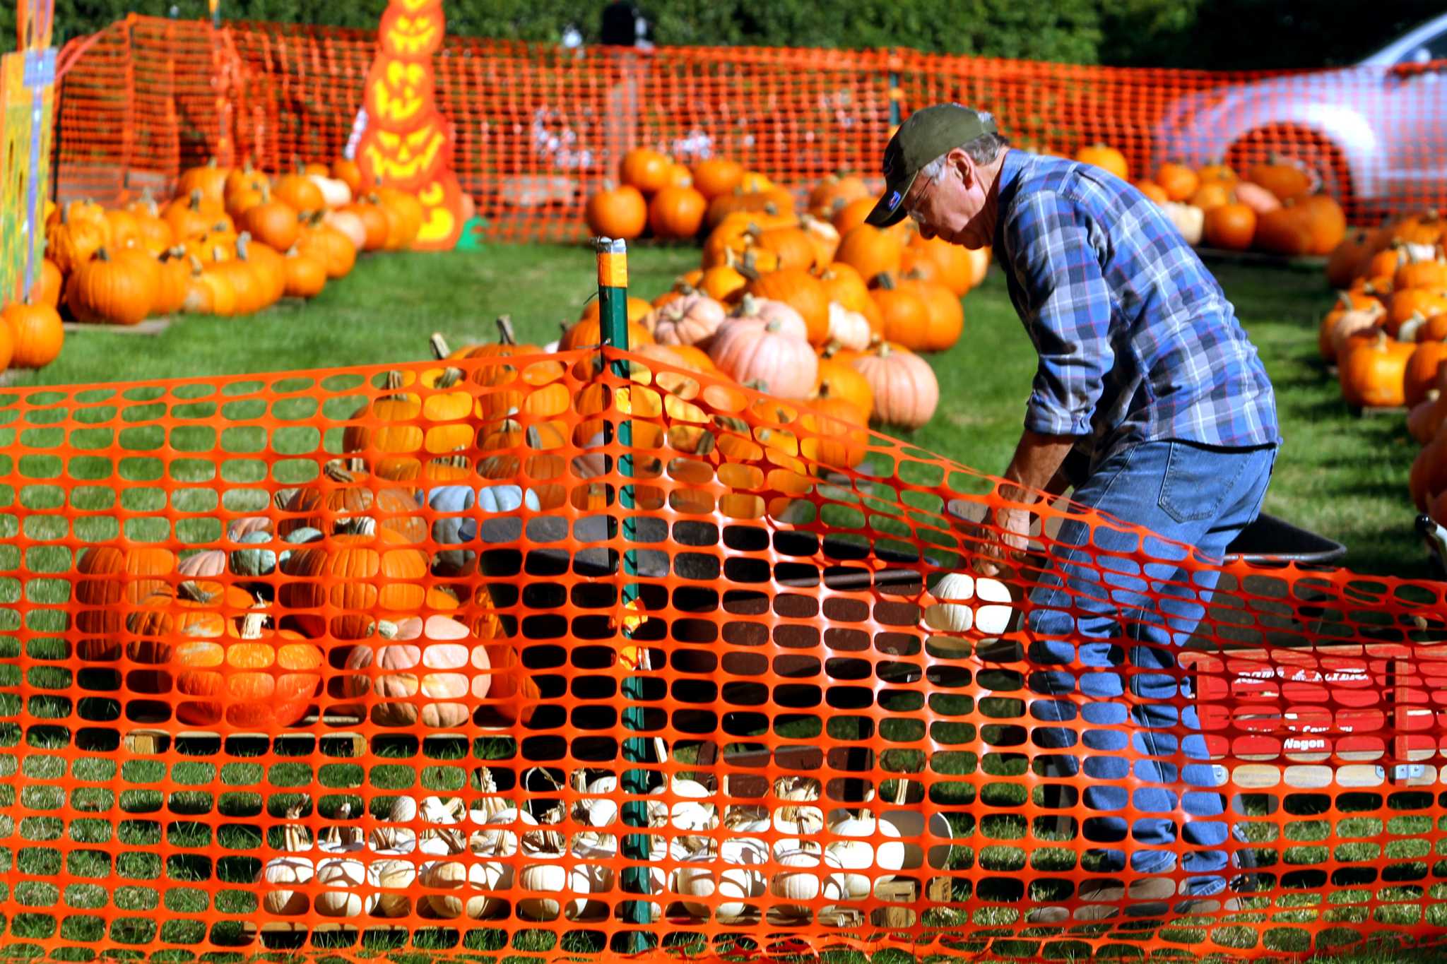
[(1040, 357), (1024, 428), (1042, 435), (1090, 435), (1116, 357), (1110, 288), (1090, 225), (1068, 198), (1042, 191), (1020, 198), (1004, 230), (1024, 299), (1026, 330)]

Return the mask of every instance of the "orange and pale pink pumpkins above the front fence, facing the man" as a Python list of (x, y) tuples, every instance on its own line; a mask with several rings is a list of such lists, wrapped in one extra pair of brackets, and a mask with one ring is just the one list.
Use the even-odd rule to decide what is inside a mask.
[[(735, 162), (702, 162), (693, 176), (713, 192), (702, 264), (651, 304), (629, 299), (632, 347), (657, 343), (780, 399), (844, 400), (857, 425), (929, 422), (939, 384), (920, 353), (959, 340), (961, 296), (984, 279), (990, 250), (926, 241), (912, 221), (864, 224), (875, 192), (852, 175), (815, 185), (802, 210)], [(624, 227), (589, 224), (606, 236)], [(585, 322), (559, 344), (595, 344), (596, 317)]]

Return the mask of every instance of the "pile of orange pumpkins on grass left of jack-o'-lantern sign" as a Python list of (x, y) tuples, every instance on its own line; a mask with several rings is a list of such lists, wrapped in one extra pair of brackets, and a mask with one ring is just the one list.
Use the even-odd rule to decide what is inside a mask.
[(359, 251), (405, 247), (421, 223), (414, 195), (368, 192), (352, 160), (278, 176), (213, 160), (182, 172), (168, 204), (146, 195), (123, 208), (51, 205), (27, 301), (116, 325), (182, 311), (250, 315), (282, 296), (321, 293)]

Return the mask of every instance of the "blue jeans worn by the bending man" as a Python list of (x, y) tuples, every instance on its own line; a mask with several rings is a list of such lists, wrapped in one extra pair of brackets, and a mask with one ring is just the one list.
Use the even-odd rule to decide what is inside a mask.
[[(1275, 460), (1275, 447), (1140, 442), (1107, 455), (1072, 499), (1220, 561), (1260, 513)], [(1132, 870), (1175, 872), (1176, 854), (1152, 845), (1175, 844), (1179, 793), (1179, 809), (1188, 815), (1181, 835), (1191, 847), (1182, 861), (1184, 893), (1224, 890), (1229, 861), (1220, 847), (1230, 830), (1224, 819), (1210, 819), (1226, 811), (1214, 789), (1223, 780), (1211, 763), (1178, 762), (1208, 754), (1195, 707), (1188, 702), (1178, 721), (1171, 702), (1192, 695), (1174, 650), (1205, 616), (1218, 572), (1182, 569), (1179, 545), (1153, 538), (1140, 545), (1134, 533), (1106, 525), (1092, 529), (1075, 517), (1062, 523), (1051, 558), (1030, 593), (1026, 623), (1036, 668), (1029, 688), (1049, 698), (1037, 698), (1030, 714), (1059, 723), (1075, 721), (1078, 713), (1081, 726), (1035, 730), (1037, 747), (1064, 750), (1037, 756), (1036, 772), (1061, 778), (1084, 769), (1087, 778), (1117, 782), (1084, 792), (1079, 832), (1088, 843), (1114, 844), (1087, 850), (1106, 873), (1126, 869), (1127, 845)], [(1146, 559), (1143, 571), (1139, 559)], [(1055, 665), (1062, 668), (1048, 668)], [(1137, 757), (1134, 773), (1126, 756), (1111, 756), (1126, 752), (1127, 739)], [(1120, 785), (1132, 778), (1134, 792)], [(1163, 815), (1137, 815), (1127, 827), (1126, 817), (1113, 815), (1127, 802), (1137, 814)]]

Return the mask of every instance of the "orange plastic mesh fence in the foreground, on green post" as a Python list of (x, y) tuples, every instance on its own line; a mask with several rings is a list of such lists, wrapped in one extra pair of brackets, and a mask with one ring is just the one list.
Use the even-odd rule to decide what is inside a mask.
[[(1213, 567), (1069, 503), (968, 580), (994, 480), (627, 357), (0, 399), (7, 954), (1443, 934), (1447, 587)], [(1068, 559), (1202, 619), (1042, 662)]]

